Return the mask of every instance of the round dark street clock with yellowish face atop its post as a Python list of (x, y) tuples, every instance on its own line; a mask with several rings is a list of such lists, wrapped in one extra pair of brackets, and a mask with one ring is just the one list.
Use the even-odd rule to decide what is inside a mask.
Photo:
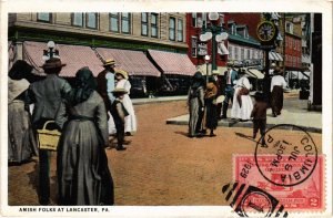
[(263, 21), (259, 23), (256, 28), (256, 35), (262, 44), (273, 43), (278, 35), (278, 30), (274, 23), (270, 21)]

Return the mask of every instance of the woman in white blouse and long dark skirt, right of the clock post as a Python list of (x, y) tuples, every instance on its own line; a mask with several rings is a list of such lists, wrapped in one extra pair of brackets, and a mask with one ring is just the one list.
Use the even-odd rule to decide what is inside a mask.
[(282, 70), (276, 66), (271, 82), (271, 107), (274, 117), (280, 115), (283, 108), (283, 89), (286, 87), (286, 82), (282, 73)]

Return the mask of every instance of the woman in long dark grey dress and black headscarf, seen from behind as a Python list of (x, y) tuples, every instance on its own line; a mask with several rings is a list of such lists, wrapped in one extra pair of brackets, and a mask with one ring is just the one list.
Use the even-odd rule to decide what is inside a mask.
[(60, 205), (113, 205), (113, 180), (104, 150), (108, 118), (95, 87), (89, 68), (80, 69), (75, 86), (56, 117), (63, 127), (57, 160)]

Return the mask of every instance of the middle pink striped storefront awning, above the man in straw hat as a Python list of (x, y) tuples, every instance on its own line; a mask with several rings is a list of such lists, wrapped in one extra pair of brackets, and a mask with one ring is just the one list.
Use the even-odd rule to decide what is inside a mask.
[(160, 71), (148, 60), (142, 51), (97, 48), (97, 52), (105, 59), (114, 59), (115, 69), (122, 69), (130, 75), (160, 76)]

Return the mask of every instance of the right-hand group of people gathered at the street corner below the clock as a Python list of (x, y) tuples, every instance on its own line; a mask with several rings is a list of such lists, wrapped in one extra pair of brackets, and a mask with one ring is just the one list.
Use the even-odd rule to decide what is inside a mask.
[(275, 68), (274, 76), (270, 81), (269, 100), (264, 93), (256, 92), (253, 105), (250, 95), (252, 85), (244, 70), (235, 71), (228, 66), (224, 76), (220, 76), (214, 70), (206, 81), (200, 71), (195, 72), (188, 94), (189, 137), (202, 137), (206, 134), (206, 129), (210, 129), (210, 136), (215, 136), (213, 131), (218, 126), (218, 121), (228, 118), (230, 102), (232, 103), (231, 118), (239, 122), (252, 120), (253, 138), (256, 137), (259, 129), (263, 135), (266, 126), (266, 110), (271, 107), (273, 116), (276, 117), (283, 107), (283, 89), (286, 87), (286, 82), (281, 74), (282, 71)]

